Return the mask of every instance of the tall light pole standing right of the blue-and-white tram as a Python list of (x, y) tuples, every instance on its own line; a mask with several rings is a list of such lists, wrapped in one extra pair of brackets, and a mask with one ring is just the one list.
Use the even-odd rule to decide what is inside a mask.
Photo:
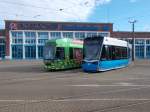
[(134, 34), (134, 27), (137, 20), (129, 21), (132, 25), (132, 61), (135, 60), (135, 34)]

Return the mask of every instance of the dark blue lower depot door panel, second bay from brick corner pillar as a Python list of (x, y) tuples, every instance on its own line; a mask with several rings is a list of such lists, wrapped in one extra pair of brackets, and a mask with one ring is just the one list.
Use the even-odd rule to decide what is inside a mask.
[(36, 46), (25, 46), (25, 58), (26, 59), (36, 58)]

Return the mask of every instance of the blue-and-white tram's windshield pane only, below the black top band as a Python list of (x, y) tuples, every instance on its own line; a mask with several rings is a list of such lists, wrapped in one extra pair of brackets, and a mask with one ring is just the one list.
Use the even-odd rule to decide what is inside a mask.
[(100, 45), (98, 41), (89, 41), (84, 44), (84, 59), (98, 60), (100, 54)]

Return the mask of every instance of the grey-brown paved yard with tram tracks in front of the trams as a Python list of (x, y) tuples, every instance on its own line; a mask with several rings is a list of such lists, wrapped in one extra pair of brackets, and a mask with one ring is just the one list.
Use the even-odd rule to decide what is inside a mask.
[(150, 60), (99, 73), (1, 61), (0, 112), (150, 112)]

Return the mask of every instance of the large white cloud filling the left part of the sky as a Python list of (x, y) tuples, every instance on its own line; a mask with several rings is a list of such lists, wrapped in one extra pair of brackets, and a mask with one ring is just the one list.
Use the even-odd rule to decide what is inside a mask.
[(85, 21), (96, 6), (109, 2), (111, 0), (1, 0), (0, 17), (20, 20)]

